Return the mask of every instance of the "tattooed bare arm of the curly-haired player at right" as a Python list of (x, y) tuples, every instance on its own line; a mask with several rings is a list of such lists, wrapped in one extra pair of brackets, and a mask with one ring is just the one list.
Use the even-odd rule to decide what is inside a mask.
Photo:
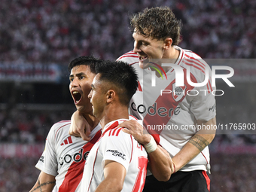
[[(212, 118), (209, 121), (197, 120), (199, 125), (215, 125), (216, 118)], [(175, 171), (181, 169), (185, 166), (190, 160), (193, 160), (207, 145), (209, 145), (212, 140), (215, 138), (216, 130), (200, 130), (187, 142), (186, 145), (178, 152), (173, 158), (172, 161), (175, 163)]]

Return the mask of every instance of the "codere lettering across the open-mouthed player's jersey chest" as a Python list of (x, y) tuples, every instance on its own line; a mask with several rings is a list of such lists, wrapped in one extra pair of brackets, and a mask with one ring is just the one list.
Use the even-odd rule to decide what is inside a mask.
[(84, 149), (82, 148), (79, 153), (76, 153), (74, 155), (66, 154), (64, 157), (59, 157), (59, 165), (62, 166), (64, 163), (71, 163), (71, 162), (79, 163), (81, 162), (81, 160), (86, 161), (89, 152), (90, 151), (86, 151), (84, 153)]

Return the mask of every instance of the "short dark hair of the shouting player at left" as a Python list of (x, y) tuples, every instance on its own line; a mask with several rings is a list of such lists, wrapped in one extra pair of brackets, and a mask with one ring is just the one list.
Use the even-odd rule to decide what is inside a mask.
[(73, 59), (73, 60), (69, 63), (68, 69), (69, 69), (69, 72), (71, 72), (72, 69), (73, 69), (75, 66), (81, 66), (81, 65), (90, 66), (90, 72), (93, 72), (93, 73), (96, 74), (95, 67), (96, 67), (96, 65), (97, 65), (99, 62), (102, 62), (102, 60), (101, 60), (101, 59), (96, 59), (96, 58), (93, 57), (93, 56), (79, 56), (78, 58)]

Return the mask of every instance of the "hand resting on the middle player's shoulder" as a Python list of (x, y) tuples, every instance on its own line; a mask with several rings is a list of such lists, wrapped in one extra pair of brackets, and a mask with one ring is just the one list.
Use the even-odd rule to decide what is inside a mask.
[(151, 141), (151, 136), (136, 120), (126, 120), (120, 123), (119, 127), (125, 127), (123, 132), (132, 135), (142, 145), (146, 145)]

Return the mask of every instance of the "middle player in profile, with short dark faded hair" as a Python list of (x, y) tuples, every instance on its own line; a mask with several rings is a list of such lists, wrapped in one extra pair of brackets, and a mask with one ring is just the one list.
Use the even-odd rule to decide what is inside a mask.
[(100, 120), (102, 136), (84, 166), (81, 191), (142, 191), (147, 173), (145, 148), (123, 128), (128, 106), (136, 93), (138, 77), (125, 62), (105, 61), (96, 69), (89, 94), (93, 115)]

